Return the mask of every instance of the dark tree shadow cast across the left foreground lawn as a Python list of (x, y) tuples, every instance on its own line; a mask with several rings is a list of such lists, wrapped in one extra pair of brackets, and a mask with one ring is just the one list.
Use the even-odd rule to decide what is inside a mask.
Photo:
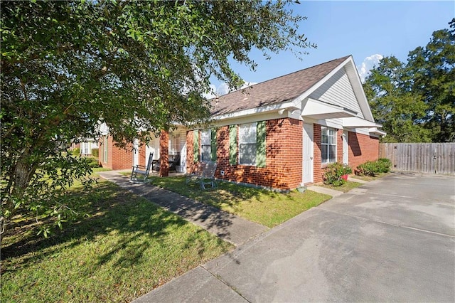
[[(21, 266), (27, 267), (28, 262), (41, 260), (59, 254), (65, 248), (74, 248), (85, 242), (96, 241), (98, 236), (109, 233), (131, 234), (131, 237), (112, 243), (108, 252), (97, 256), (97, 262), (104, 264), (112, 260), (114, 255), (122, 251), (117, 266), (129, 267), (143, 256), (148, 247), (144, 237), (154, 238), (160, 245), (166, 245), (165, 238), (173, 227), (185, 225), (178, 216), (168, 213), (143, 198), (121, 190), (118, 186), (104, 182), (92, 188), (89, 193), (70, 193), (70, 201), (77, 201), (77, 210), (86, 213), (75, 223), (70, 223), (63, 230), (55, 230), (50, 238), (36, 235), (38, 226), (30, 220), (23, 220), (10, 227), (4, 236), (1, 248), (1, 260), (22, 257)], [(194, 233), (186, 238), (190, 245), (198, 238)], [(142, 239), (142, 240), (141, 240)], [(196, 240), (197, 242), (197, 240)], [(33, 252), (33, 253), (31, 253)], [(203, 247), (198, 248), (200, 255)], [(3, 266), (2, 266), (3, 267)], [(16, 268), (5, 268), (4, 272), (14, 272)]]

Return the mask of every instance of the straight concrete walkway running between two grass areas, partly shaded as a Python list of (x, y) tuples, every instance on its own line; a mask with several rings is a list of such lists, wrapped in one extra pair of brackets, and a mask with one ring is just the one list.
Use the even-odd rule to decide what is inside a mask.
[(176, 213), (178, 216), (236, 246), (255, 238), (255, 236), (269, 229), (231, 213), (220, 211), (218, 208), (181, 196), (178, 193), (166, 191), (151, 184), (131, 182), (128, 176), (123, 176), (120, 172), (122, 171), (100, 171), (98, 174), (103, 179), (111, 181), (138, 196), (142, 196), (166, 208), (168, 211)]

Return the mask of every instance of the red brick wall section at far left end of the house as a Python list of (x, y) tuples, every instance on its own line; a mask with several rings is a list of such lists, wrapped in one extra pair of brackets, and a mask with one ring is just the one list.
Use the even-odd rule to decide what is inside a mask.
[(115, 147), (111, 136), (107, 137), (107, 163), (105, 163), (105, 140), (100, 138), (100, 164), (108, 169), (131, 169), (133, 164), (133, 153), (131, 145), (126, 149)]

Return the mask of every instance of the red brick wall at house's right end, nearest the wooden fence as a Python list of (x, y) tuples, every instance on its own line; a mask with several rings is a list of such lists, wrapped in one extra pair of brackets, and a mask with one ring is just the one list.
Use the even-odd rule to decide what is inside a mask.
[(349, 132), (349, 166), (354, 170), (359, 164), (366, 161), (375, 161), (379, 158), (379, 138)]

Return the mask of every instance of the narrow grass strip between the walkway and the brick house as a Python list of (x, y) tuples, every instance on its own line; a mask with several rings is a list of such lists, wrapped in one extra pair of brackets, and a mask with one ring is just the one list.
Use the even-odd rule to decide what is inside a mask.
[(314, 191), (277, 193), (223, 181), (218, 188), (201, 191), (198, 184), (186, 184), (184, 176), (152, 177), (151, 182), (269, 228), (331, 198)]

